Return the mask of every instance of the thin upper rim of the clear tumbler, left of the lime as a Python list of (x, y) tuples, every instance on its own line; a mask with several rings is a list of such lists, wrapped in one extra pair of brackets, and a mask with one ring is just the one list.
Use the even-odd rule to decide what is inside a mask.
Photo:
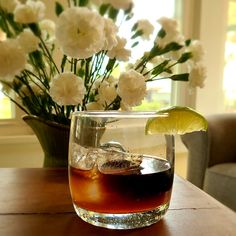
[(72, 117), (119, 117), (119, 118), (153, 118), (153, 117), (163, 117), (165, 114), (158, 114), (157, 111), (75, 111)]

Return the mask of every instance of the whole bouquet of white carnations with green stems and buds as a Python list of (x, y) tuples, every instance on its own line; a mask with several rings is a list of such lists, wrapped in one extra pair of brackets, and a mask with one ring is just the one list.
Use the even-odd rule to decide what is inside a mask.
[[(3, 93), (26, 114), (67, 125), (74, 111), (140, 105), (151, 81), (203, 87), (200, 42), (166, 17), (157, 26), (138, 20), (124, 38), (132, 9), (132, 0), (68, 0), (56, 2), (53, 22), (42, 1), (0, 0)], [(150, 38), (150, 49), (135, 58), (132, 51)]]

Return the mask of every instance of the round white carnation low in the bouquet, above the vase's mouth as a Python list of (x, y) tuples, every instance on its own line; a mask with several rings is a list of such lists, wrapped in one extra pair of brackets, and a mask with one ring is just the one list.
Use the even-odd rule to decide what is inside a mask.
[(81, 104), (85, 92), (83, 80), (71, 72), (56, 75), (50, 83), (50, 95), (59, 105)]

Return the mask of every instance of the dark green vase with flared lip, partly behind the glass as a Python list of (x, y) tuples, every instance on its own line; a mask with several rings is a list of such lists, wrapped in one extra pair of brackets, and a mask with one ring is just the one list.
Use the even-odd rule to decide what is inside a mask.
[(69, 125), (43, 120), (33, 115), (22, 118), (34, 131), (43, 149), (43, 167), (67, 167)]

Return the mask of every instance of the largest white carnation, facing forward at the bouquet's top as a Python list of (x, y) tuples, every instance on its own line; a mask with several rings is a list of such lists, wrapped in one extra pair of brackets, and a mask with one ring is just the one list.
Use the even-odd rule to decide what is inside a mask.
[(103, 48), (104, 20), (88, 8), (69, 8), (59, 16), (56, 38), (66, 55), (89, 58)]

